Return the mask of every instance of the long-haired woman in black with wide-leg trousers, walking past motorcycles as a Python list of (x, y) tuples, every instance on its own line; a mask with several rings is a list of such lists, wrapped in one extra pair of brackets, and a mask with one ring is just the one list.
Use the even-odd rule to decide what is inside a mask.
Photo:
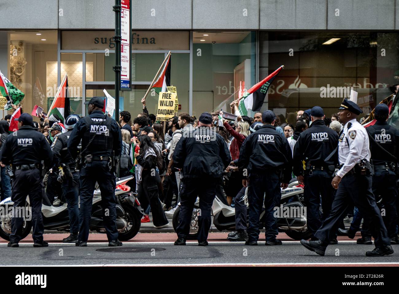
[(159, 170), (162, 169), (162, 156), (148, 136), (138, 136), (137, 144), (140, 151), (139, 153), (134, 152), (134, 158), (138, 162), (138, 196), (140, 203), (144, 209), (148, 205), (151, 207), (154, 228), (167, 227), (169, 222), (159, 200), (158, 186), (161, 179), (156, 172), (157, 167)]

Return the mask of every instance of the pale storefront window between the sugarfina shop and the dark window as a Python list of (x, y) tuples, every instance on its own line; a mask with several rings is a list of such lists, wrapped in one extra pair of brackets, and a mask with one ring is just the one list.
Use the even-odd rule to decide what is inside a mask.
[(193, 115), (220, 110), (255, 84), (255, 32), (193, 33)]

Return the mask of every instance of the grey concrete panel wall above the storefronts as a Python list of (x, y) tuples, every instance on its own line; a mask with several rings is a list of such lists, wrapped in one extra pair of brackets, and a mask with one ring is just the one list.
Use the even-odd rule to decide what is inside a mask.
[[(399, 29), (399, 0), (131, 2), (133, 29)], [(0, 29), (113, 29), (113, 5), (114, 0), (0, 0)]]

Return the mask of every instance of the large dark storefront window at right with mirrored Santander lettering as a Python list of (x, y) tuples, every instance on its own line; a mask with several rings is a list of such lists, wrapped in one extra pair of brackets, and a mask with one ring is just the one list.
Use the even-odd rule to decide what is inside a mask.
[(295, 123), (294, 112), (315, 105), (337, 112), (351, 87), (363, 115), (398, 83), (398, 34), (377, 32), (261, 32), (259, 78), (285, 66), (269, 88), (263, 110)]

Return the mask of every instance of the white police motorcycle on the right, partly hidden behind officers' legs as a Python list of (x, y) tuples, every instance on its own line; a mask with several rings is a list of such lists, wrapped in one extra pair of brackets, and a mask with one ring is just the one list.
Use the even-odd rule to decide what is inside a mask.
[[(306, 208), (303, 199), (304, 187), (298, 181), (291, 182), (288, 188), (281, 190), (280, 206), (275, 208), (277, 215), (277, 227), (279, 232), (284, 232), (294, 240), (310, 238), (310, 232), (307, 230), (306, 224)], [(247, 205), (248, 212), (248, 188), (245, 189), (243, 201)], [(197, 198), (192, 213), (190, 224), (189, 240), (195, 240), (198, 235), (198, 212), (199, 198)], [(180, 203), (176, 208), (172, 224), (176, 232), (179, 224)], [(235, 230), (235, 209), (227, 203), (222, 192), (217, 192), (215, 200), (213, 200), (211, 215), (213, 216), (213, 224), (219, 231)], [(247, 218), (248, 224), (248, 218)], [(265, 206), (263, 205), (262, 213), (259, 219), (260, 227), (265, 226)]]

